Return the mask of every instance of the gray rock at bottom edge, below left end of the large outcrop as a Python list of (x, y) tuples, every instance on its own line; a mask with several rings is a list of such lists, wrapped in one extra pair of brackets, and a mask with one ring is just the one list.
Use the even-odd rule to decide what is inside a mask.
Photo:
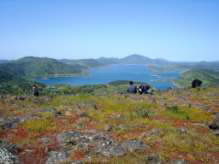
[(58, 164), (60, 162), (64, 162), (67, 160), (67, 153), (66, 152), (57, 152), (51, 151), (49, 152), (48, 159), (46, 164)]

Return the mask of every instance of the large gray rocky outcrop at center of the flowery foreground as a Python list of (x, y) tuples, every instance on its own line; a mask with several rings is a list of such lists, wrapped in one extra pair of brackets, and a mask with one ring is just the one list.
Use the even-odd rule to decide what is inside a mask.
[(92, 152), (107, 157), (122, 156), (127, 152), (142, 151), (147, 148), (143, 141), (128, 140), (120, 143), (103, 133), (70, 131), (59, 134), (57, 140), (67, 149), (82, 148), (87, 151), (88, 147), (92, 147)]

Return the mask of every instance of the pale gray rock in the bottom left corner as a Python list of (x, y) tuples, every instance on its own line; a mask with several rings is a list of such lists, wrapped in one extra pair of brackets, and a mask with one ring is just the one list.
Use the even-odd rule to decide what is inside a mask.
[(18, 158), (10, 153), (6, 148), (0, 148), (0, 163), (19, 164)]

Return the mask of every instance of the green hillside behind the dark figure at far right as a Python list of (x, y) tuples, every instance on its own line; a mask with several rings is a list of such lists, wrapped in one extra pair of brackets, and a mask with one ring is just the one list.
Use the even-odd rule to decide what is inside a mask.
[(192, 69), (181, 74), (176, 80), (178, 87), (190, 87), (194, 79), (203, 81), (204, 86), (219, 85), (219, 72), (207, 69)]

